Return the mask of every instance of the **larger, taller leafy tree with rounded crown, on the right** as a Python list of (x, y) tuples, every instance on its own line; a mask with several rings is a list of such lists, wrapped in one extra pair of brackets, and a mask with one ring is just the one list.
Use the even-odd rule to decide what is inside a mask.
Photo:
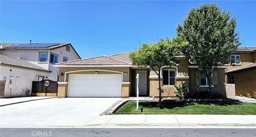
[(230, 12), (222, 12), (215, 4), (192, 8), (183, 26), (177, 26), (177, 35), (188, 41), (182, 53), (205, 73), (209, 92), (212, 91), (213, 69), (227, 64), (230, 54), (241, 45), (235, 28), (236, 18), (231, 18)]

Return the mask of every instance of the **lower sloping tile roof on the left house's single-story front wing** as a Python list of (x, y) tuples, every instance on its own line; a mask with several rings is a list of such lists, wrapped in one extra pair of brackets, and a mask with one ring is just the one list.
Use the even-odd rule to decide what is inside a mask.
[(41, 66), (38, 66), (36, 64), (26, 61), (25, 59), (17, 58), (17, 57), (5, 56), (0, 54), (0, 62), (2, 64), (7, 64), (7, 65), (20, 66), (20, 67), (26, 67), (29, 69), (51, 72), (49, 70), (44, 69)]

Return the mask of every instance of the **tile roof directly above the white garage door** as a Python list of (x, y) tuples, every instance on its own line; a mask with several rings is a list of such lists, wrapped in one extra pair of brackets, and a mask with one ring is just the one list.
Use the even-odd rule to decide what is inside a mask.
[[(127, 56), (128, 57), (128, 56)], [(75, 61), (57, 63), (65, 65), (131, 65), (131, 63), (123, 61), (111, 56), (99, 56), (85, 59), (78, 59)]]

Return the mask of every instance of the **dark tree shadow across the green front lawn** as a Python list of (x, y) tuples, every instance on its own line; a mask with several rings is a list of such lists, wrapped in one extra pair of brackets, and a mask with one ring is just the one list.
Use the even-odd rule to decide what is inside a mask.
[[(172, 102), (163, 101), (161, 109), (173, 109), (182, 108), (193, 105), (215, 105), (215, 106), (231, 106), (231, 105), (242, 105), (241, 102)], [(140, 106), (143, 108), (159, 108), (158, 102), (140, 102)]]

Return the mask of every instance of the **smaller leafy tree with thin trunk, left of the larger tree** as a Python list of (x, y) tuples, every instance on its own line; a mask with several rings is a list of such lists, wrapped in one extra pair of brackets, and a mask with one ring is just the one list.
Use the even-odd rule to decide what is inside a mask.
[(175, 56), (180, 54), (180, 47), (186, 45), (180, 37), (169, 39), (163, 38), (157, 43), (143, 44), (139, 47), (139, 50), (132, 52), (129, 57), (133, 65), (138, 67), (149, 66), (158, 75), (159, 85), (159, 106), (161, 106), (161, 67), (162, 66), (177, 66), (179, 64), (176, 61)]

